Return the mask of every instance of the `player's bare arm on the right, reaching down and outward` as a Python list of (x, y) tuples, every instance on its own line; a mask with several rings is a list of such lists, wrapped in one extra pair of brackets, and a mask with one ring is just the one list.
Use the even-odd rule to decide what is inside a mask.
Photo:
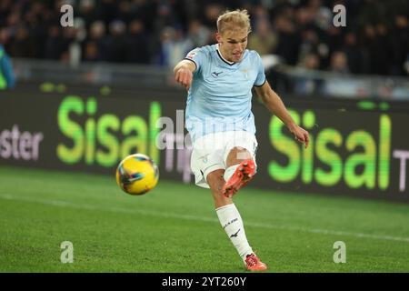
[(262, 99), (265, 107), (280, 118), (284, 125), (286, 125), (294, 135), (294, 139), (300, 143), (304, 143), (306, 148), (309, 143), (308, 132), (304, 130), (304, 128), (295, 124), (293, 117), (288, 113), (280, 96), (274, 92), (268, 82), (265, 81), (264, 85), (261, 86), (254, 86), (254, 89), (257, 95)]

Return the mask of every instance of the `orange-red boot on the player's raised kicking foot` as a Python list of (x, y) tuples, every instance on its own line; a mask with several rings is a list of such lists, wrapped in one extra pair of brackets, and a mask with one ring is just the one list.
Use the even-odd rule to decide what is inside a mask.
[(234, 171), (233, 176), (224, 184), (222, 193), (226, 197), (234, 196), (241, 188), (247, 185), (255, 174), (255, 163), (253, 160), (245, 160), (240, 163)]

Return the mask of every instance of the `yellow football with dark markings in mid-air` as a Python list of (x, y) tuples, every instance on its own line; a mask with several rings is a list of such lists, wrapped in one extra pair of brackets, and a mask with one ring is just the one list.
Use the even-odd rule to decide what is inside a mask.
[(152, 190), (159, 178), (155, 162), (143, 154), (126, 156), (116, 167), (116, 183), (129, 195), (143, 195)]

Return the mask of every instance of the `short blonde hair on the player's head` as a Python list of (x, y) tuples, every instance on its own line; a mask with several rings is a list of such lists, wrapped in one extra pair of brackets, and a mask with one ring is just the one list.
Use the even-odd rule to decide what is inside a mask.
[(247, 10), (227, 10), (217, 18), (217, 31), (219, 34), (223, 34), (225, 30), (235, 30), (237, 28), (247, 28), (249, 33), (252, 31), (250, 15), (248, 15)]

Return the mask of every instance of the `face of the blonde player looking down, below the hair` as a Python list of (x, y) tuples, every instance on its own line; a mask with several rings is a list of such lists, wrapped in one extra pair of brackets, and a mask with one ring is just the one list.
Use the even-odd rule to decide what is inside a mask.
[(240, 62), (247, 47), (248, 30), (246, 28), (226, 30), (218, 34), (217, 41), (223, 57), (229, 62)]

